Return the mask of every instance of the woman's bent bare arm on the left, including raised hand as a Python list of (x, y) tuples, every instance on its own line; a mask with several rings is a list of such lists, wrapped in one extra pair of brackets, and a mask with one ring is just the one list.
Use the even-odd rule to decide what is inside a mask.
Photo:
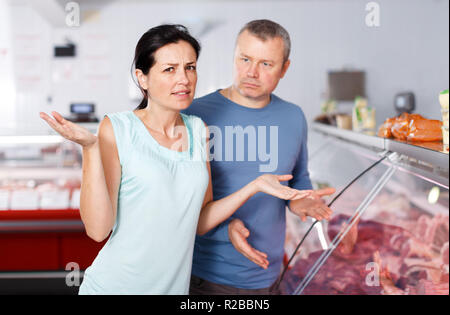
[(53, 112), (54, 119), (41, 113), (50, 127), (83, 148), (83, 178), (80, 215), (87, 235), (97, 242), (111, 232), (117, 213), (121, 167), (109, 118), (99, 126), (98, 137)]

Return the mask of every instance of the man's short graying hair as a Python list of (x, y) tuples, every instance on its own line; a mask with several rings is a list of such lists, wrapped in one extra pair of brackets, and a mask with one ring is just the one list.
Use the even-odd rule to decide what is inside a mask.
[(286, 29), (280, 24), (270, 20), (255, 20), (245, 24), (245, 26), (239, 32), (239, 35), (241, 35), (245, 31), (248, 31), (250, 34), (255, 35), (262, 41), (281, 37), (284, 43), (283, 62), (286, 62), (289, 59), (289, 55), (291, 53), (291, 38)]

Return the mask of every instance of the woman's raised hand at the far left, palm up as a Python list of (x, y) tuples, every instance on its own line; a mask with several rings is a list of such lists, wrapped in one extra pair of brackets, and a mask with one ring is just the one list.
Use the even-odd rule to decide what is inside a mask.
[(43, 112), (41, 112), (39, 115), (57, 133), (59, 133), (67, 140), (80, 144), (81, 146), (83, 146), (83, 148), (91, 147), (97, 143), (97, 136), (89, 132), (87, 129), (64, 119), (57, 112), (52, 112), (52, 116), (54, 117), (54, 119)]

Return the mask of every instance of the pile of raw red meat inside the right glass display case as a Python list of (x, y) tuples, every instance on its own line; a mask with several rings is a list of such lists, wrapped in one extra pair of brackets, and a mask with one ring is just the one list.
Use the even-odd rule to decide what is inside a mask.
[[(329, 222), (330, 240), (349, 219), (338, 215)], [(373, 220), (356, 222), (303, 294), (448, 294), (448, 217), (422, 216), (415, 222), (409, 231)], [(293, 293), (323, 253), (297, 261), (283, 283), (284, 293)]]

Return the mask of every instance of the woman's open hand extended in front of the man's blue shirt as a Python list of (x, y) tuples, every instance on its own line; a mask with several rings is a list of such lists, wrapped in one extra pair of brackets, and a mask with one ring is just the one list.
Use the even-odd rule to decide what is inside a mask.
[(254, 184), (259, 192), (263, 192), (280, 199), (298, 200), (309, 197), (312, 190), (297, 190), (288, 186), (282, 185), (280, 182), (285, 182), (292, 179), (292, 175), (273, 175), (264, 174), (259, 176)]

